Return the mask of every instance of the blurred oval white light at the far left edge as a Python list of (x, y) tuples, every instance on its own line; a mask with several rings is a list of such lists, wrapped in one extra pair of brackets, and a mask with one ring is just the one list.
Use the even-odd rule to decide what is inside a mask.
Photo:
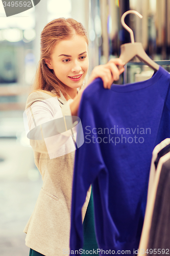
[(23, 37), (22, 31), (20, 29), (4, 29), (2, 30), (3, 37), (9, 42), (20, 41)]

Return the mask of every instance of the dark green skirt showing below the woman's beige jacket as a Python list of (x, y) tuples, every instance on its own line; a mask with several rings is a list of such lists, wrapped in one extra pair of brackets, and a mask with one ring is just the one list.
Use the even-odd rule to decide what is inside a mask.
[[(84, 253), (82, 253), (81, 255), (87, 255), (87, 254), (99, 255), (96, 253), (98, 249), (98, 244), (96, 242), (95, 231), (94, 231), (94, 206), (93, 206), (92, 190), (91, 190), (90, 200), (86, 210), (86, 215), (83, 221), (83, 243), (84, 243), (84, 246), (83, 246)], [(29, 256), (44, 256), (44, 255), (37, 251), (34, 251), (33, 249), (30, 249)]]

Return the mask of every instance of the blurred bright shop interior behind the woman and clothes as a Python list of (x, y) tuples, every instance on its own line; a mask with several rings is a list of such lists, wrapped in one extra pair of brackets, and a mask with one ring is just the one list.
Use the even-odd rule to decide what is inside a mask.
[[(30, 10), (11, 17), (6, 17), (0, 1), (1, 256), (29, 255), (22, 230), (42, 185), (22, 115), (39, 61), (43, 27), (58, 17), (72, 17), (81, 22), (90, 41), (90, 73), (96, 65), (118, 57), (120, 45), (130, 42), (129, 33), (120, 24), (120, 17), (128, 10), (143, 15), (140, 19), (130, 14), (125, 19), (135, 41), (142, 43), (153, 60), (169, 60), (169, 0), (41, 0)], [(169, 65), (163, 67), (169, 71)], [(148, 79), (153, 74), (140, 65), (131, 64), (127, 70), (128, 82)], [(118, 83), (123, 82), (122, 76)]]

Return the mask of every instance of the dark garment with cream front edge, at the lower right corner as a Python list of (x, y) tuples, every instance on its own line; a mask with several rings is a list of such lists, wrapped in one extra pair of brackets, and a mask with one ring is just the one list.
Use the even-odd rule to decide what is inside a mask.
[[(161, 255), (169, 254), (169, 159), (170, 153), (161, 157), (156, 169), (154, 186), (150, 200), (147, 203), (147, 210), (144, 218), (138, 253), (139, 256), (148, 255), (148, 253)], [(149, 223), (148, 227), (147, 223)], [(144, 236), (147, 237), (147, 240), (143, 239)]]

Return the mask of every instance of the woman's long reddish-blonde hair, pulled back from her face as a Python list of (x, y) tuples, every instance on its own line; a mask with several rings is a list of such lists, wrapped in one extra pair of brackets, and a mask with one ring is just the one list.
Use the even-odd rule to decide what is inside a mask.
[(33, 91), (45, 90), (51, 92), (55, 89), (58, 97), (60, 91), (67, 95), (65, 84), (55, 75), (52, 69), (49, 69), (45, 59), (50, 59), (57, 42), (69, 39), (74, 35), (83, 36), (88, 45), (87, 32), (83, 25), (72, 18), (57, 18), (48, 23), (41, 32), (40, 42), (40, 61), (33, 83)]

